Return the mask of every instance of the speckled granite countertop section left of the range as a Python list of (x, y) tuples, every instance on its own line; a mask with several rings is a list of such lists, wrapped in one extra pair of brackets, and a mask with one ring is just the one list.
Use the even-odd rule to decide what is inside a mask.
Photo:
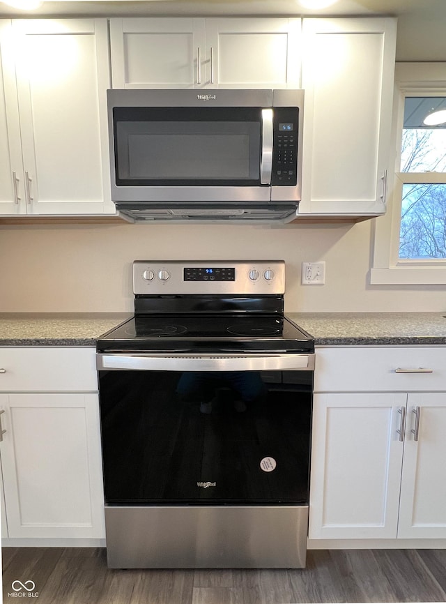
[(131, 312), (0, 313), (0, 346), (95, 346)]

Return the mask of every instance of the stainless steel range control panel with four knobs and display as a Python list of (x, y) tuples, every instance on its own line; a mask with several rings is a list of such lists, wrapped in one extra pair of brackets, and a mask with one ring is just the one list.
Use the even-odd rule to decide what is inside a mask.
[(133, 292), (154, 296), (284, 294), (285, 263), (283, 260), (135, 260)]

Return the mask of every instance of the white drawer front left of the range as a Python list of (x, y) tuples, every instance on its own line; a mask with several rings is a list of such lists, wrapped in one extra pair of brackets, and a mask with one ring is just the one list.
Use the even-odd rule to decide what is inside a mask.
[(95, 349), (0, 348), (0, 391), (97, 391)]

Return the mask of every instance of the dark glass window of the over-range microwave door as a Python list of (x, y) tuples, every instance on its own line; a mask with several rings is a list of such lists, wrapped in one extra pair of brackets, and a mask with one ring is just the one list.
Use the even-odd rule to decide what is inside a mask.
[(261, 109), (115, 107), (116, 186), (258, 186)]

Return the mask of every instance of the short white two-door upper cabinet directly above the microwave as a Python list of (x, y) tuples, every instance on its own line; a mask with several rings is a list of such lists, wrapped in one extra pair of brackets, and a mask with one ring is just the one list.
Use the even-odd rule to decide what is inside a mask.
[(114, 88), (298, 88), (297, 19), (114, 18)]

